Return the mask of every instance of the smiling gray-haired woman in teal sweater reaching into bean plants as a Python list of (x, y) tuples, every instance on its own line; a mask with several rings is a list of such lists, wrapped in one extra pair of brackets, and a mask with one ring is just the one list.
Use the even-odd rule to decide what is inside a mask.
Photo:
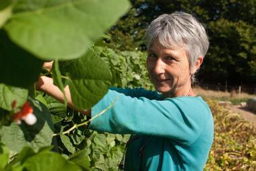
[[(191, 87), (207, 52), (203, 26), (188, 13), (160, 15), (147, 29), (150, 79), (157, 92), (110, 88), (86, 114), (95, 116), (89, 129), (131, 134), (125, 170), (203, 170), (214, 136), (212, 113)], [(63, 100), (48, 77), (38, 90)], [(68, 87), (65, 90), (72, 106)], [(158, 94), (160, 92), (160, 94)]]

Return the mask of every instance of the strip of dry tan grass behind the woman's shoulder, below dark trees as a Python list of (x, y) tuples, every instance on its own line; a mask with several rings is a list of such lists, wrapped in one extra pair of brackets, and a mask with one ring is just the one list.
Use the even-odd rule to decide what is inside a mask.
[(255, 97), (256, 95), (236, 92), (220, 92), (216, 90), (205, 90), (203, 88), (195, 87), (195, 93), (203, 98), (211, 98), (212, 100), (218, 101), (229, 101), (232, 104), (240, 104), (241, 102), (247, 102), (249, 98)]

